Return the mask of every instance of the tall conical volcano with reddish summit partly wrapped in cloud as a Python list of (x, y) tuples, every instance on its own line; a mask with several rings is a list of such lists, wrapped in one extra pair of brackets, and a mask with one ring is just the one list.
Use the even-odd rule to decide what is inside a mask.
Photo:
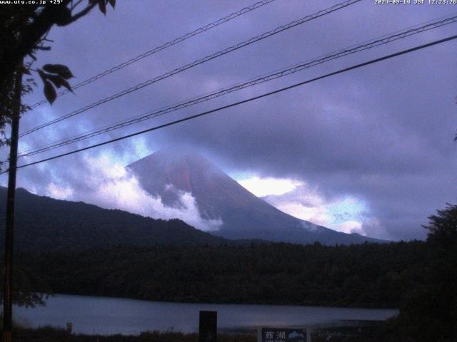
[(360, 234), (345, 234), (297, 219), (248, 192), (201, 155), (161, 150), (127, 167), (141, 187), (160, 196), (170, 207), (183, 207), (182, 195), (195, 198), (201, 217), (219, 220), (211, 234), (228, 239), (273, 242), (356, 244), (380, 242)]

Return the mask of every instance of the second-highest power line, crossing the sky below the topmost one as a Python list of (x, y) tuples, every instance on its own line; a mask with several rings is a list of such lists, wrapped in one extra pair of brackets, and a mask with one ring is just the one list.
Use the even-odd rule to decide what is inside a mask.
[(286, 24), (286, 25), (283, 25), (283, 26), (278, 26), (277, 28), (275, 28), (275, 29), (273, 29), (271, 31), (262, 33), (262, 34), (260, 34), (258, 36), (255, 36), (253, 38), (248, 39), (247, 41), (243, 41), (243, 42), (238, 43), (236, 45), (230, 46), (229, 48), (225, 48), (224, 50), (218, 51), (218, 52), (213, 53), (213, 54), (211, 54), (209, 56), (206, 56), (204, 58), (196, 60), (196, 61), (194, 61), (192, 63), (186, 64), (185, 66), (181, 66), (180, 68), (176, 68), (173, 71), (169, 71), (168, 73), (164, 73), (161, 76), (157, 76), (156, 78), (152, 78), (149, 81), (145, 81), (143, 83), (139, 83), (138, 85), (133, 86), (131, 88), (128, 88), (126, 90), (122, 90), (121, 92), (116, 93), (114, 95), (111, 95), (108, 98), (104, 98), (104, 99), (101, 99), (99, 101), (96, 101), (95, 103), (91, 103), (90, 105), (86, 105), (83, 108), (75, 110), (75, 111), (73, 111), (73, 112), (71, 112), (69, 114), (66, 114), (64, 116), (61, 116), (60, 118), (56, 118), (56, 119), (51, 120), (51, 121), (49, 121), (47, 123), (44, 123), (44, 124), (39, 125), (39, 126), (36, 126), (35, 128), (31, 128), (30, 130), (27, 130), (26, 132), (21, 133), (21, 135), (19, 135), (19, 137), (23, 137), (24, 135), (29, 135), (30, 133), (33, 133), (36, 130), (41, 130), (41, 128), (45, 128), (45, 127), (47, 127), (49, 125), (53, 125), (54, 123), (59, 123), (60, 121), (66, 120), (68, 118), (71, 118), (74, 115), (78, 115), (78, 114), (84, 113), (86, 110), (89, 110), (91, 108), (97, 107), (97, 106), (99, 106), (99, 105), (101, 105), (103, 103), (109, 102), (109, 101), (114, 100), (116, 98), (120, 98), (121, 96), (127, 95), (129, 93), (132, 93), (132, 92), (134, 92), (136, 90), (139, 90), (141, 88), (144, 88), (146, 86), (150, 86), (151, 84), (156, 83), (158, 81), (161, 81), (164, 78), (169, 78), (170, 76), (173, 76), (176, 73), (181, 73), (183, 71), (186, 71), (187, 69), (193, 68), (194, 66), (198, 66), (199, 64), (205, 63), (207, 61), (211, 61), (214, 58), (218, 58), (220, 56), (224, 56), (227, 53), (231, 53), (232, 51), (238, 50), (239, 48), (243, 48), (244, 46), (251, 45), (252, 43), (256, 43), (257, 41), (261, 41), (261, 40), (263, 40), (265, 38), (268, 38), (270, 36), (273, 36), (273, 35), (275, 35), (277, 33), (280, 33), (282, 31), (286, 31), (289, 28), (293, 28), (295, 26), (304, 24), (307, 21), (311, 21), (313, 19), (317, 19), (318, 17), (325, 16), (326, 14), (330, 14), (330, 13), (332, 13), (334, 11), (338, 11), (339, 9), (343, 9), (343, 8), (345, 8), (347, 6), (350, 6), (352, 4), (355, 4), (355, 3), (359, 2), (359, 1), (361, 1), (361, 0), (346, 0), (346, 1), (341, 2), (340, 4), (336, 4), (334, 6), (328, 7), (328, 9), (322, 9), (321, 11), (318, 11), (315, 14), (311, 14), (311, 15), (305, 16), (302, 19), (298, 19), (296, 21), (292, 21), (289, 24)]

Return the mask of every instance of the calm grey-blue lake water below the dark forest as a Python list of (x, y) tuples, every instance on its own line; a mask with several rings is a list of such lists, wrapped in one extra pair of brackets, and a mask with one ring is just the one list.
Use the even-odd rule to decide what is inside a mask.
[(196, 332), (199, 311), (218, 313), (218, 328), (312, 326), (342, 320), (383, 321), (396, 309), (346, 309), (321, 306), (181, 304), (92, 296), (58, 295), (46, 307), (14, 308), (14, 319), (32, 327), (73, 323), (75, 333), (137, 334), (141, 331)]

